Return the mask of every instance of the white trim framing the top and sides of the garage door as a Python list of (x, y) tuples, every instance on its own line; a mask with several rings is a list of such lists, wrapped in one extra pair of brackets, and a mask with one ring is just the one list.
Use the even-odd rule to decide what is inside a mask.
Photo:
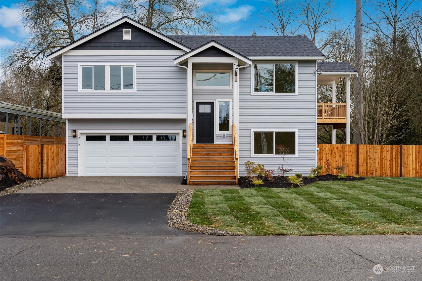
[[(183, 130), (80, 130), (77, 131), (78, 139), (81, 139), (81, 134), (178, 134), (179, 133), (179, 155), (180, 155), (180, 170), (179, 176), (182, 176), (183, 165)], [(78, 141), (79, 142), (79, 141)], [(82, 144), (82, 140), (80, 142)], [(78, 145), (78, 176), (82, 176), (82, 145)]]

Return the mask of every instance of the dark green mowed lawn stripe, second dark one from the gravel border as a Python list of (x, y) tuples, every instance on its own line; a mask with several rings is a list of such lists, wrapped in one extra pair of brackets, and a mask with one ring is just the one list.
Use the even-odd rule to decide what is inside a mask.
[(249, 231), (262, 235), (268, 234), (268, 228), (263, 227), (265, 222), (247, 204), (237, 189), (221, 189), (220, 191), (227, 202), (227, 207), (233, 211), (233, 217), (238, 221), (235, 227), (248, 228), (248, 231), (245, 231), (246, 234)]

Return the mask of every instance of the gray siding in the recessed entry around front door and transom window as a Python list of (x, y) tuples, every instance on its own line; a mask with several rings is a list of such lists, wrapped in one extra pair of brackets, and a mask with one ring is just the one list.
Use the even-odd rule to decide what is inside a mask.
[[(220, 64), (194, 64), (194, 75), (192, 81), (195, 83), (195, 70), (232, 70), (233, 64), (220, 63)], [(195, 84), (194, 84), (195, 85)], [(232, 101), (232, 119), (233, 119), (233, 71), (232, 71), (232, 89), (193, 89), (193, 112), (195, 113), (195, 100), (211, 100), (214, 101), (214, 117), (217, 116), (217, 104), (216, 100), (231, 100)], [(216, 118), (214, 118), (215, 120)], [(217, 132), (216, 122), (214, 122), (215, 132)], [(195, 131), (195, 130), (194, 130)], [(195, 133), (194, 133), (195, 134)], [(222, 137), (222, 134), (216, 134), (216, 142), (231, 142), (232, 134), (227, 133), (226, 138)]]

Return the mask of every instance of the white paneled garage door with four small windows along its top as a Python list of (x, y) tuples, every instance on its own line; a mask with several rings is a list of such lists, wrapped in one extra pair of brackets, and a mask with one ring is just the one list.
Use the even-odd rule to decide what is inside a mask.
[(180, 176), (174, 134), (83, 134), (82, 176)]

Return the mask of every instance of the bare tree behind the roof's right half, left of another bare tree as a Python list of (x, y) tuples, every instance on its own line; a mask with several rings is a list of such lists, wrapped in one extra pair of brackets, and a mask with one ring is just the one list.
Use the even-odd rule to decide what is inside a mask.
[(269, 15), (262, 16), (262, 26), (279, 36), (297, 35), (301, 24), (298, 22), (300, 11), (297, 2), (288, 0), (274, 0), (268, 9)]

